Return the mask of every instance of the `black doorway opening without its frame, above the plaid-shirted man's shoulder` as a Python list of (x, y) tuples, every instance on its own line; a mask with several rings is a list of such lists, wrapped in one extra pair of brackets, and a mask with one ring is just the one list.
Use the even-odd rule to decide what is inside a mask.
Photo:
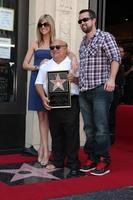
[(132, 1), (106, 0), (105, 31), (111, 32), (119, 44), (133, 53)]

